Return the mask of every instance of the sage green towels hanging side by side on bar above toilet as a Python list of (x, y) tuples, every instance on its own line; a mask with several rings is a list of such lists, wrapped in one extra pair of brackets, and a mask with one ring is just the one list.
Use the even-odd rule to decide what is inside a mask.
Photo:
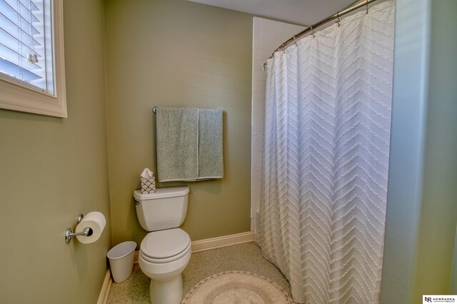
[(222, 178), (222, 110), (157, 108), (159, 181)]

